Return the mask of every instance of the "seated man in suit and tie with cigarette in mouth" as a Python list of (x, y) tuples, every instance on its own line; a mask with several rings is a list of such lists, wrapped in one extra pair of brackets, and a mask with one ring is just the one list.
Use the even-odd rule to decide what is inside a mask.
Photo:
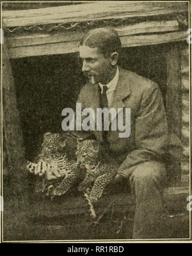
[[(114, 182), (127, 179), (136, 197), (134, 239), (160, 238), (157, 233), (162, 215), (163, 181), (161, 160), (168, 146), (168, 127), (159, 86), (148, 78), (124, 70), (117, 64), (121, 48), (118, 33), (97, 28), (87, 33), (79, 46), (82, 71), (89, 82), (79, 94), (82, 109), (131, 108), (131, 134), (119, 138), (122, 131), (81, 131), (84, 138), (94, 134), (99, 143), (119, 163)], [(129, 60), (127, 60), (129, 61)], [(104, 95), (105, 94), (105, 95)], [(102, 105), (101, 105), (102, 102)], [(96, 115), (95, 115), (96, 120)]]

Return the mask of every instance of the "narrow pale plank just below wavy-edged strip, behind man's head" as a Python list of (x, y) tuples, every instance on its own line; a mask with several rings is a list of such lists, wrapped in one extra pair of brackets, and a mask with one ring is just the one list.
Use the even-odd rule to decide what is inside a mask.
[[(155, 33), (155, 32), (170, 32), (179, 30), (177, 21), (149, 21), (144, 23), (136, 23), (128, 26), (113, 27), (120, 37), (125, 35), (134, 35), (138, 33)], [(24, 36), (8, 37), (9, 48), (31, 46), (36, 44), (47, 44), (53, 42), (71, 42), (79, 41), (88, 32), (63, 32), (63, 33), (35, 33)]]

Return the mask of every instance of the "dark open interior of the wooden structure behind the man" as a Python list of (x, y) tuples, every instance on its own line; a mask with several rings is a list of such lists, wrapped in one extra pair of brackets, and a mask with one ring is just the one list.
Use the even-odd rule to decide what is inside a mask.
[[(166, 44), (124, 48), (119, 64), (154, 80), (166, 103)], [(47, 131), (61, 133), (61, 111), (75, 109), (86, 78), (77, 53), (13, 59), (20, 122), (26, 158), (33, 160)]]

